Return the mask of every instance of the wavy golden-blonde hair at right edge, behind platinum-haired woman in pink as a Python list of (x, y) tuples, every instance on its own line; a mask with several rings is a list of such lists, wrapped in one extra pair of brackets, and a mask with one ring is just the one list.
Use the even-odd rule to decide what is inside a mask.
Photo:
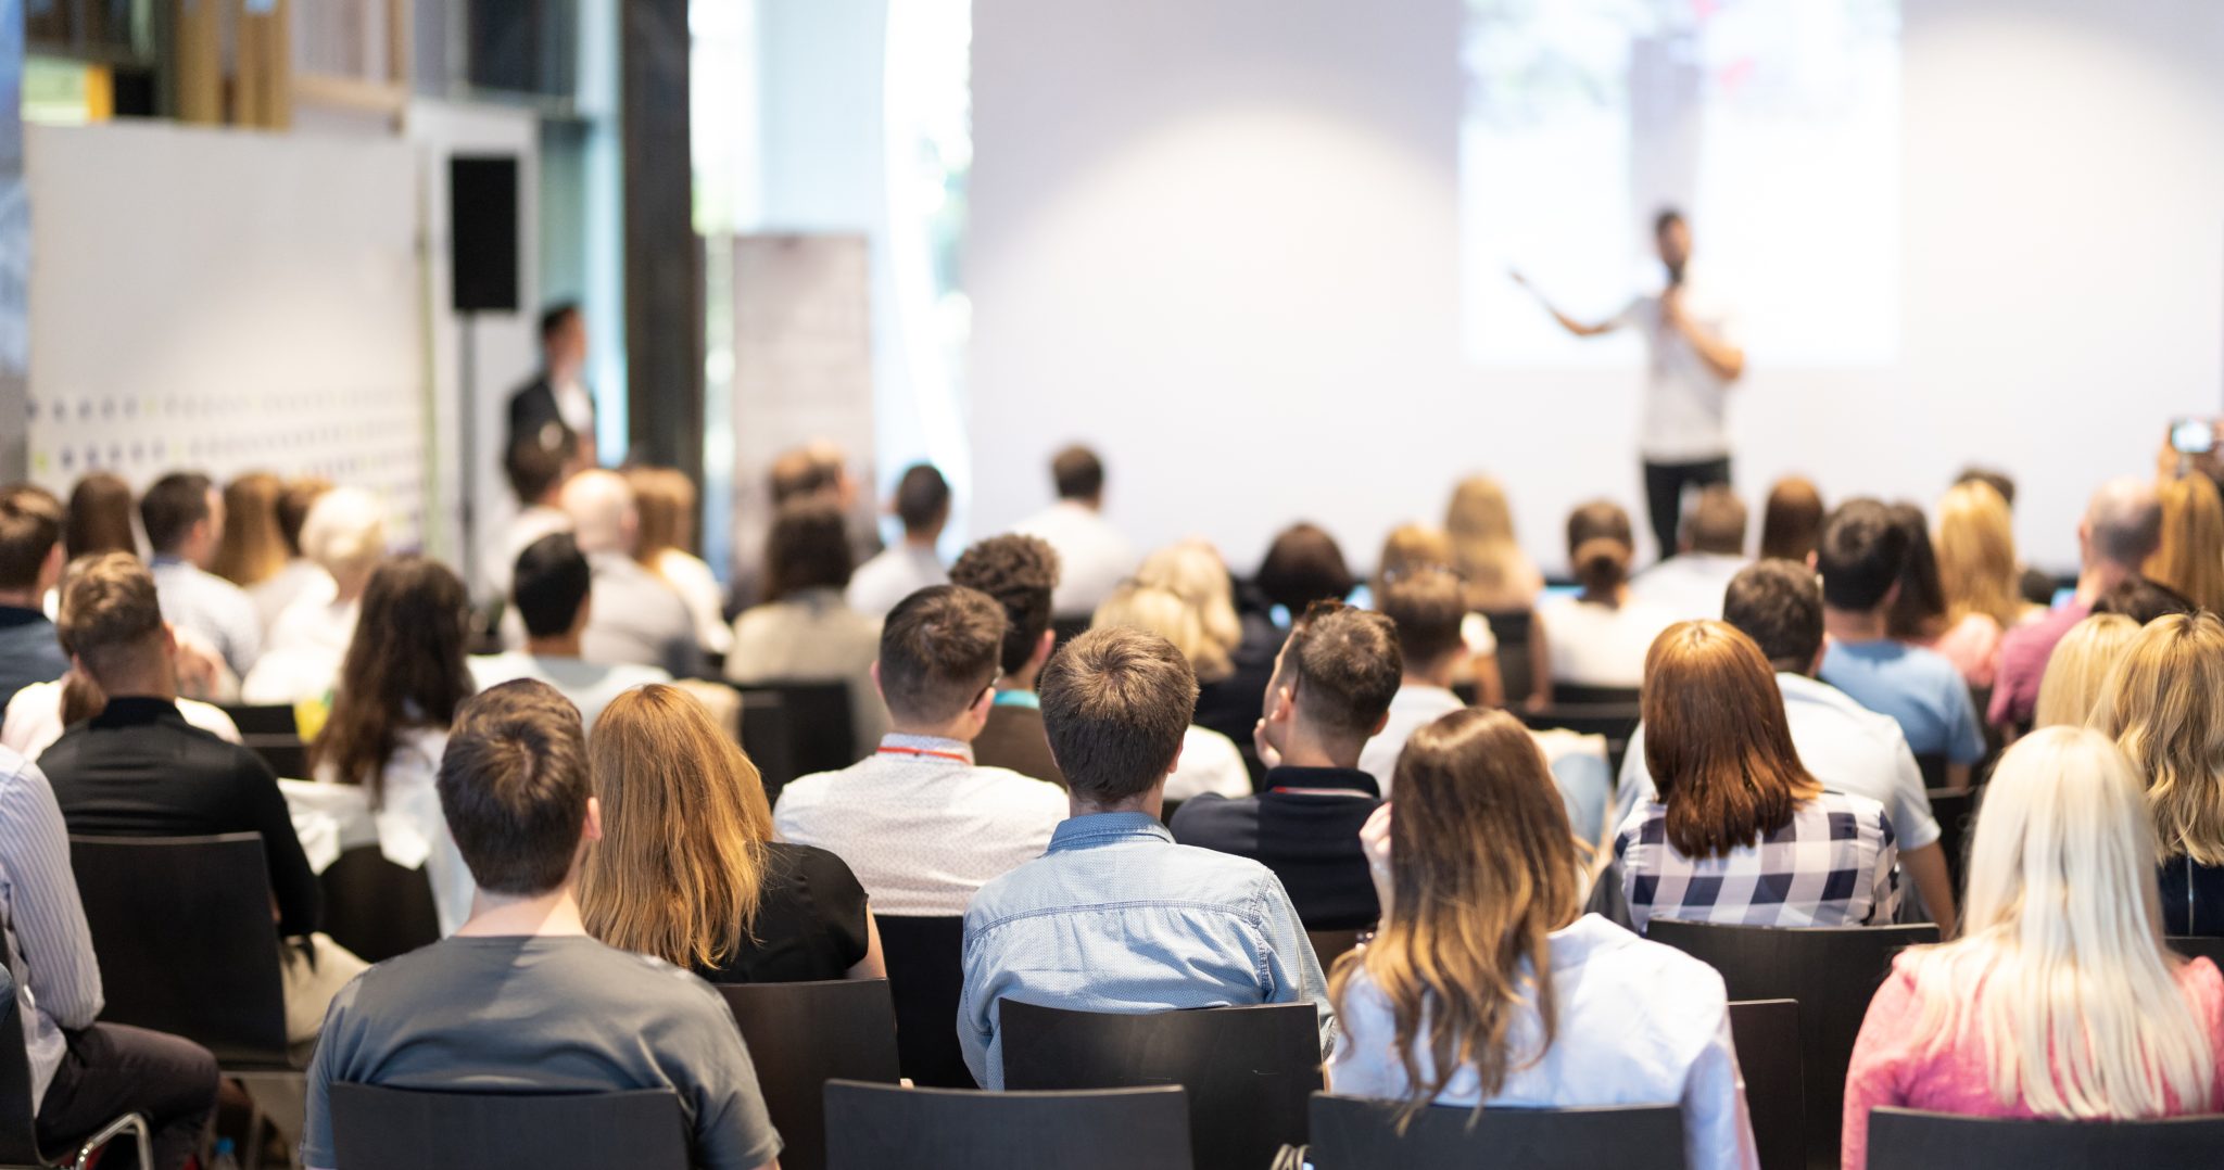
[(2146, 776), (2162, 854), (2224, 865), (2224, 621), (2146, 623), (2108, 674), (2091, 725)]

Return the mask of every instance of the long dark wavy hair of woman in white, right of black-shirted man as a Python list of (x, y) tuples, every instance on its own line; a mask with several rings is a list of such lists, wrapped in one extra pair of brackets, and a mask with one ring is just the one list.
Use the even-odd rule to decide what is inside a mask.
[(363, 785), (380, 805), (400, 734), (447, 727), (471, 696), (467, 607), (463, 581), (438, 561), (396, 556), (371, 572), (309, 767), (329, 763), (340, 783)]

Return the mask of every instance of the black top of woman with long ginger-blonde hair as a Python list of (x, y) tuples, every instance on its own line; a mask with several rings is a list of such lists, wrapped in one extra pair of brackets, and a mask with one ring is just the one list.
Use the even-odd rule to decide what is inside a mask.
[(843, 859), (816, 847), (770, 841), (756, 939), (743, 939), (712, 983), (810, 983), (841, 979), (865, 959), (865, 888)]

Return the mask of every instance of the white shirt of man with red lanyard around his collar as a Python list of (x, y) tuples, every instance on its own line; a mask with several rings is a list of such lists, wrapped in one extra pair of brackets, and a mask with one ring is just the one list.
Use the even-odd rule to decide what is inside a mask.
[(847, 861), (874, 914), (954, 919), (983, 883), (1043, 856), (1065, 812), (1065, 790), (981, 767), (967, 743), (890, 734), (783, 787), (772, 827)]

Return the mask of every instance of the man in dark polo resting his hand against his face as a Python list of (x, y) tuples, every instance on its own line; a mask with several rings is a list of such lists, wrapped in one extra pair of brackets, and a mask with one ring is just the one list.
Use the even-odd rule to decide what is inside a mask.
[(1305, 930), (1374, 925), (1381, 908), (1359, 827), (1381, 805), (1381, 787), (1359, 770), (1359, 752), (1388, 723), (1401, 676), (1390, 618), (1314, 603), (1290, 627), (1265, 692), (1257, 732), (1263, 790), (1185, 801), (1174, 841), (1263, 861), (1290, 890)]

